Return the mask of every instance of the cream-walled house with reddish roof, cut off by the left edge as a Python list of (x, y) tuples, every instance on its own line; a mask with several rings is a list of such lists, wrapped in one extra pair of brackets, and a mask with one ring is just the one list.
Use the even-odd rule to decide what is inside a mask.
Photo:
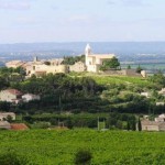
[(16, 89), (6, 89), (0, 91), (0, 101), (19, 103), (22, 100), (22, 92)]

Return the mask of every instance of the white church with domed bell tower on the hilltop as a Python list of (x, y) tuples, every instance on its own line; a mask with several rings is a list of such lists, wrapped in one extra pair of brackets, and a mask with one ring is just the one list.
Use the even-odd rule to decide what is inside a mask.
[(116, 57), (114, 54), (94, 54), (89, 44), (85, 48), (87, 72), (98, 73), (103, 61)]

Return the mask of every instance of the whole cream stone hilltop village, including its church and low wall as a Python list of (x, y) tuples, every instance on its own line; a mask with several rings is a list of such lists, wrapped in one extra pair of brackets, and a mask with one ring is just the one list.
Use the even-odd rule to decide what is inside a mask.
[[(95, 54), (91, 51), (89, 44), (85, 48), (85, 61), (76, 62), (73, 65), (64, 64), (64, 58), (54, 58), (54, 59), (38, 59), (34, 57), (33, 62), (21, 62), (21, 61), (11, 61), (6, 64), (8, 68), (22, 67), (25, 69), (26, 78), (35, 75), (41, 77), (47, 74), (58, 74), (58, 73), (102, 73), (100, 69), (106, 61), (117, 58), (114, 54)], [(135, 69), (120, 69), (109, 68), (107, 74), (109, 75), (124, 75), (124, 76), (139, 76), (146, 77), (145, 70), (142, 70), (140, 74)]]

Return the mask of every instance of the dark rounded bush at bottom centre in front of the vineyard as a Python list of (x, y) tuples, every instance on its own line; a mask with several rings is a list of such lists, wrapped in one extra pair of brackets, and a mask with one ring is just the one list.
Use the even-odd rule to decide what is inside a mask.
[(92, 154), (90, 151), (81, 148), (75, 155), (75, 165), (90, 165)]

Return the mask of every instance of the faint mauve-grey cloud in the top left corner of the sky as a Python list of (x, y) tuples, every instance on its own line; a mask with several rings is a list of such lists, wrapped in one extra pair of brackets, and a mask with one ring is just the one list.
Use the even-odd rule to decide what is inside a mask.
[(29, 10), (31, 0), (0, 0), (0, 9), (8, 10)]

